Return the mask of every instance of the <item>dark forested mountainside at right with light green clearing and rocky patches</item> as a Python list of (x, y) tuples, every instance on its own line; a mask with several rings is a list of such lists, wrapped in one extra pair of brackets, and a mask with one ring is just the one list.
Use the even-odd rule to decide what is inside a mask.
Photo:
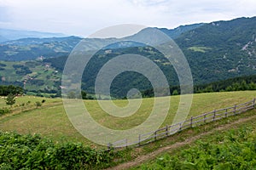
[(256, 17), (217, 21), (175, 39), (195, 82), (256, 74)]

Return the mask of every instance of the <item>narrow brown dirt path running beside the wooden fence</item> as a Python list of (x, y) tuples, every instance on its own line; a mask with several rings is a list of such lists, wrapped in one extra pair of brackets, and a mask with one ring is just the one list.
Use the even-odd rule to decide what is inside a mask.
[(234, 127), (237, 124), (240, 124), (242, 122), (247, 122), (247, 121), (249, 121), (251, 119), (254, 119), (254, 118), (256, 118), (256, 116), (249, 116), (249, 117), (241, 118), (241, 119), (239, 119), (239, 120), (237, 120), (235, 122), (230, 122), (230, 123), (225, 124), (225, 125), (220, 125), (219, 127), (214, 128), (214, 129), (212, 129), (209, 132), (200, 133), (200, 134), (198, 134), (196, 136), (193, 136), (193, 137), (191, 137), (189, 139), (186, 139), (183, 142), (177, 142), (175, 144), (168, 145), (166, 147), (160, 148), (159, 150), (155, 150), (154, 152), (151, 152), (148, 155), (139, 156), (139, 157), (137, 157), (137, 159), (135, 159), (133, 161), (125, 162), (125, 163), (120, 164), (120, 165), (118, 165), (116, 167), (109, 167), (107, 170), (120, 170), (120, 169), (127, 169), (129, 167), (135, 167), (137, 165), (142, 164), (144, 161), (148, 161), (148, 160), (154, 159), (156, 156), (160, 155), (160, 153), (162, 153), (162, 152), (176, 149), (177, 147), (183, 146), (185, 144), (191, 144), (196, 139), (200, 139), (202, 136), (214, 133), (216, 131), (222, 131), (222, 130), (224, 130), (226, 128), (229, 128), (229, 127)]

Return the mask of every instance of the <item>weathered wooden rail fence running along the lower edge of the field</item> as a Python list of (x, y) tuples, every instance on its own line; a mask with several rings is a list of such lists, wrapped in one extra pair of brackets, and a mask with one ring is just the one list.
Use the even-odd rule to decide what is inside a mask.
[(240, 105), (234, 105), (232, 107), (214, 110), (211, 112), (204, 113), (200, 116), (191, 116), (189, 117), (189, 119), (183, 122), (178, 122), (174, 125), (166, 125), (166, 127), (162, 127), (154, 132), (139, 134), (137, 141), (129, 143), (128, 139), (122, 139), (113, 143), (108, 143), (108, 148), (123, 148), (128, 147), (130, 145), (141, 146), (144, 144), (154, 142), (158, 139), (164, 139), (174, 133), (183, 131), (184, 129), (189, 127), (198, 127), (207, 122), (218, 121), (228, 116), (236, 116), (238, 114), (241, 114), (242, 112), (252, 110), (253, 108), (255, 108), (255, 101), (256, 99), (253, 99)]

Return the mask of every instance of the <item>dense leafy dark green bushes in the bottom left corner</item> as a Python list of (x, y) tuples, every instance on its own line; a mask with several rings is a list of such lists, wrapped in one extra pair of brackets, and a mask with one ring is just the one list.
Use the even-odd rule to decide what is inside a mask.
[(113, 160), (112, 151), (58, 143), (39, 135), (0, 132), (0, 169), (91, 169)]

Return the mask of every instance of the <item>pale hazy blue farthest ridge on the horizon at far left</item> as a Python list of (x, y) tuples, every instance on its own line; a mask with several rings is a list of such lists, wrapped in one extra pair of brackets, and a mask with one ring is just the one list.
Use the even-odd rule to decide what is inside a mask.
[(50, 33), (50, 32), (40, 32), (40, 31), (20, 31), (20, 30), (9, 30), (0, 28), (0, 42), (5, 42), (9, 40), (17, 40), (26, 37), (65, 37), (61, 33)]

